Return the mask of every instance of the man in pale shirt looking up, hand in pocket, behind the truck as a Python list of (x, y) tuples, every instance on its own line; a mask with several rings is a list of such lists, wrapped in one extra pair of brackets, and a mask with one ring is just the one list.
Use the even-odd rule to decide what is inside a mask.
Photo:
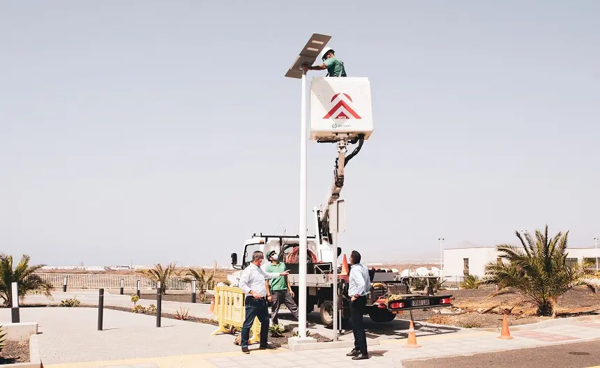
[(348, 277), (348, 296), (350, 297), (350, 319), (352, 319), (352, 332), (354, 333), (354, 348), (346, 356), (352, 360), (368, 359), (367, 337), (363, 324), (363, 315), (366, 312), (367, 293), (371, 283), (367, 266), (361, 263), (361, 254), (356, 250), (350, 253), (350, 276)]

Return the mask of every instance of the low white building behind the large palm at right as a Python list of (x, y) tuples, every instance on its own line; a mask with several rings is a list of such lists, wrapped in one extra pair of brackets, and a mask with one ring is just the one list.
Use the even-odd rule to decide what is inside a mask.
[[(567, 264), (583, 261), (595, 262), (599, 257), (600, 249), (595, 248), (567, 248)], [(455, 278), (465, 277), (466, 275), (476, 275), (483, 277), (483, 270), (486, 264), (500, 261), (500, 255), (495, 247), (458, 247), (453, 249), (444, 249), (444, 277), (450, 281)]]

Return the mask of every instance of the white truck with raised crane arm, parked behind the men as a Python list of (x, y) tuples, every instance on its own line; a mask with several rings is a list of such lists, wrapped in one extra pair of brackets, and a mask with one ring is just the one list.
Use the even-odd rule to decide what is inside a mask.
[[(343, 186), (345, 164), (360, 151), (362, 142), (363, 139), (359, 137), (359, 146), (347, 158), (345, 157), (345, 144), (347, 142), (338, 142), (339, 155), (336, 160), (333, 186), (327, 204), (333, 203), (339, 197)], [(345, 279), (343, 277), (338, 277), (338, 280), (333, 279), (333, 241), (329, 232), (327, 204), (313, 209), (317, 235), (308, 236), (307, 239), (306, 311), (308, 313), (314, 312), (316, 306), (320, 313), (321, 322), (330, 327), (333, 325), (333, 292), (338, 292), (338, 310), (340, 310), (342, 324), (350, 319), (350, 299), (347, 295), (348, 283)], [(236, 253), (231, 254), (232, 266), (239, 269), (239, 271), (229, 275), (228, 279), (233, 286), (237, 286), (241, 270), (250, 264), (253, 252), (260, 250), (263, 254), (268, 254), (271, 250), (275, 250), (279, 256), (279, 261), (284, 262), (286, 268), (290, 270), (288, 277), (294, 290), (295, 301), (298, 303), (300, 284), (298, 247), (299, 236), (264, 235), (262, 233), (257, 235), (255, 233), (243, 245), (241, 263), (238, 264)], [(338, 257), (338, 264), (340, 264), (340, 254), (341, 248), (338, 247), (335, 255)], [(390, 273), (384, 270), (383, 272), (377, 271), (379, 270), (370, 270), (371, 289), (367, 296), (366, 308), (366, 314), (375, 322), (392, 321), (396, 318), (396, 314), (405, 310), (451, 305), (450, 295), (435, 296), (410, 293), (410, 278), (400, 277), (399, 273)]]

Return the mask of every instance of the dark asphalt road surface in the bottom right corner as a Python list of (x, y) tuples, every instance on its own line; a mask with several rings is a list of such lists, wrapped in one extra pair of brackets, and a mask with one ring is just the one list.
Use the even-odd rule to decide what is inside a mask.
[(600, 365), (600, 340), (502, 353), (402, 362), (403, 368), (586, 368), (597, 365)]

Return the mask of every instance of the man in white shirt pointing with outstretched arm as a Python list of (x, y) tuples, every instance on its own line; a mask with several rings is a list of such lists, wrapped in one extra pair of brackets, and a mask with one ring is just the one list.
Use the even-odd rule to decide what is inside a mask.
[(264, 284), (265, 279), (274, 279), (280, 276), (286, 276), (290, 271), (282, 273), (266, 273), (260, 266), (264, 261), (264, 254), (257, 250), (252, 254), (252, 263), (248, 265), (241, 273), (239, 287), (246, 293), (246, 321), (241, 328), (241, 351), (249, 354), (248, 338), (250, 337), (250, 328), (254, 318), (258, 317), (260, 321), (260, 349), (272, 349), (273, 346), (267, 344), (269, 335), (269, 308), (267, 307), (267, 289)]

